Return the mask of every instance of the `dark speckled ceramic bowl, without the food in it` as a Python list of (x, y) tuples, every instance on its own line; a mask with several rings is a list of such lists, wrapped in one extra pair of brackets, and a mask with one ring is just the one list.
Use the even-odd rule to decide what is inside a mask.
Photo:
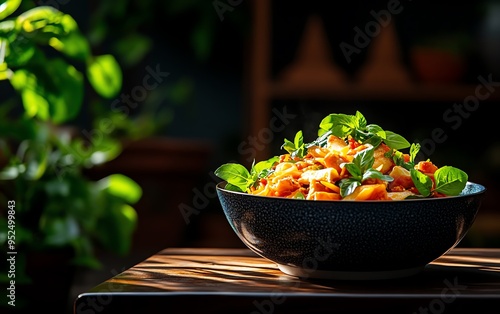
[(289, 275), (338, 280), (414, 275), (455, 247), (485, 187), (460, 196), (402, 201), (313, 201), (217, 193), (229, 224), (252, 251)]

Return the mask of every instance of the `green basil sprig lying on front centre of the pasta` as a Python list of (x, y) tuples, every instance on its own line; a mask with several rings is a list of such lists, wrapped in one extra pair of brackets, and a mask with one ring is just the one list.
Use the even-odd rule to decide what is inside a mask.
[(354, 155), (352, 162), (341, 165), (351, 174), (351, 178), (340, 180), (340, 195), (342, 197), (353, 193), (367, 179), (380, 179), (389, 182), (394, 180), (391, 176), (384, 175), (382, 172), (372, 168), (375, 162), (374, 150), (374, 147), (364, 149)]

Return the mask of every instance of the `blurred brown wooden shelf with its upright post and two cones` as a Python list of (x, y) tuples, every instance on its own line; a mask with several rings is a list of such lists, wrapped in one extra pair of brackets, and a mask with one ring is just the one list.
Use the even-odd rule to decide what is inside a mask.
[[(310, 15), (295, 57), (279, 73), (272, 69), (272, 20), (269, 1), (252, 2), (252, 40), (248, 73), (248, 136), (262, 137), (273, 121), (276, 100), (325, 101), (401, 101), (467, 103), (500, 100), (496, 82), (489, 77), (477, 83), (421, 83), (403, 62), (397, 30), (393, 23), (384, 27), (366, 47), (366, 61), (354, 74), (348, 74), (334, 60), (328, 36), (319, 16)], [(279, 56), (278, 56), (279, 57)], [(349, 63), (349, 60), (346, 60)], [(455, 78), (454, 78), (455, 79)], [(486, 84), (485, 86), (482, 86)], [(429, 109), (429, 108), (427, 108)], [(255, 159), (269, 158), (267, 147), (255, 147)]]

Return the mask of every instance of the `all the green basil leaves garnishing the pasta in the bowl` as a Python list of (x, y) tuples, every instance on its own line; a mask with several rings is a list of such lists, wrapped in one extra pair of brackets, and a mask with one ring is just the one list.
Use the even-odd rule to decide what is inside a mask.
[[(391, 148), (385, 157), (392, 158), (395, 165), (410, 171), (413, 184), (421, 194), (418, 197), (431, 197), (434, 193), (450, 196), (459, 195), (467, 184), (467, 174), (458, 168), (451, 166), (439, 168), (434, 173), (434, 181), (428, 175), (415, 169), (420, 144), (412, 143), (410, 145), (401, 135), (384, 130), (376, 124), (367, 124), (365, 117), (359, 111), (355, 115), (330, 114), (321, 121), (318, 138), (314, 141), (305, 143), (302, 131), (298, 131), (293, 142), (285, 139), (281, 148), (292, 157), (304, 158), (308, 148), (325, 147), (330, 135), (335, 135), (345, 140), (346, 143), (349, 138), (352, 138), (360, 144), (371, 145), (371, 147), (358, 152), (352, 162), (341, 165), (350, 174), (349, 178), (344, 178), (338, 183), (342, 197), (353, 193), (367, 179), (379, 179), (387, 182), (394, 180), (393, 177), (373, 169), (374, 151), (381, 143), (385, 143)], [(401, 150), (408, 147), (409, 158), (405, 158), (405, 154)], [(249, 192), (260, 179), (269, 176), (274, 171), (273, 166), (278, 160), (279, 157), (275, 156), (257, 164), (254, 161), (250, 171), (243, 165), (228, 163), (217, 168), (215, 175), (227, 181), (226, 189)], [(294, 197), (305, 198), (301, 192), (296, 193)]]

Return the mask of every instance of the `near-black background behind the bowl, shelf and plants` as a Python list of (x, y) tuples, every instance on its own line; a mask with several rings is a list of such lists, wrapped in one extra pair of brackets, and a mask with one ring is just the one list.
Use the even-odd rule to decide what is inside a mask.
[[(349, 77), (355, 77), (366, 62), (368, 49), (361, 49), (347, 62), (341, 42), (352, 43), (355, 27), (363, 28), (373, 20), (371, 11), (387, 9), (390, 1), (270, 1), (272, 6), (271, 65), (270, 73), (276, 78), (294, 60), (302, 38), (304, 25), (310, 14), (321, 16), (332, 57), (337, 66)], [(218, 14), (214, 4), (229, 5), (231, 10)], [(233, 3), (236, 5), (230, 5)], [(495, 2), (491, 2), (495, 3)], [(498, 2), (496, 2), (498, 3)], [(238, 146), (252, 134), (248, 115), (248, 74), (251, 69), (252, 1), (178, 0), (178, 1), (39, 1), (39, 5), (54, 5), (71, 14), (82, 31), (93, 42), (96, 54), (112, 53), (123, 66), (123, 91), (129, 92), (140, 85), (146, 67), (158, 65), (170, 75), (162, 83), (175, 85), (180, 80), (191, 82), (190, 101), (179, 106), (169, 101), (160, 102), (160, 107), (171, 107), (172, 122), (155, 136), (181, 140), (196, 140), (210, 145), (211, 153), (204, 161), (203, 169), (196, 174), (192, 185), (187, 186), (187, 199), (172, 200), (174, 204), (193, 206), (200, 201), (198, 192), (212, 192), (216, 179), (211, 173), (221, 164), (242, 160)], [(476, 86), (478, 76), (500, 82), (500, 14), (498, 4), (488, 1), (400, 1), (403, 8), (393, 15), (401, 48), (402, 63), (417, 83), (418, 77), (412, 70), (410, 59), (412, 48), (439, 35), (438, 42), (459, 36), (463, 45), (455, 53), (462, 56), (466, 70), (458, 86)], [(491, 18), (492, 17), (492, 18)], [(104, 29), (104, 30), (103, 30)], [(147, 47), (134, 62), (128, 57), (137, 48), (134, 45), (120, 45), (131, 34), (140, 34)], [(489, 55), (493, 58), (488, 59)], [(434, 84), (434, 83), (429, 83)], [(375, 123), (405, 136), (410, 142), (424, 141), (433, 130), (443, 129), (447, 135), (443, 143), (434, 143), (428, 157), (437, 165), (453, 165), (469, 174), (473, 182), (484, 184), (488, 191), (481, 215), (498, 217), (498, 195), (500, 185), (500, 140), (497, 116), (500, 86), (494, 86), (493, 95), (484, 101), (453, 129), (443, 119), (443, 114), (458, 99), (412, 99), (412, 97), (387, 97), (369, 99), (275, 99), (270, 110), (286, 107), (288, 112), (299, 118), (282, 133), (275, 135), (270, 143), (272, 153), (280, 153), (283, 138), (291, 138), (303, 129), (306, 139), (313, 140), (321, 119), (329, 113), (354, 114), (357, 110), (365, 115), (368, 123)], [(132, 112), (140, 115), (141, 108)], [(83, 115), (76, 121), (88, 128), (89, 116)], [(429, 148), (429, 147), (428, 147)], [(271, 157), (271, 156), (269, 156)], [(185, 174), (149, 178), (175, 182)], [(150, 184), (150, 183), (148, 183)], [(212, 189), (212, 190), (211, 190)], [(116, 272), (123, 270), (150, 254), (168, 246), (243, 247), (225, 221), (216, 197), (206, 197), (202, 210), (185, 223), (177, 206), (166, 208), (162, 198), (168, 193), (158, 189), (152, 201), (147, 202), (146, 211), (170, 212), (169, 218), (156, 221), (160, 230), (154, 237), (136, 243), (127, 258), (109, 257), (103, 252), (105, 267), (99, 271), (83, 271), (77, 278), (74, 293), (77, 294)], [(206, 194), (206, 193), (205, 193)], [(140, 205), (143, 206), (144, 204)], [(147, 213), (139, 210), (139, 220)], [(173, 217), (173, 218), (172, 218)], [(490, 216), (484, 216), (490, 217)], [(485, 221), (486, 220), (486, 221)], [(489, 218), (477, 221), (474, 230), (461, 245), (498, 246), (500, 226)], [(163, 229), (162, 229), (163, 228)], [(171, 236), (171, 230), (179, 230)], [(143, 230), (138, 230), (142, 232)], [(106, 260), (107, 259), (107, 260)]]

